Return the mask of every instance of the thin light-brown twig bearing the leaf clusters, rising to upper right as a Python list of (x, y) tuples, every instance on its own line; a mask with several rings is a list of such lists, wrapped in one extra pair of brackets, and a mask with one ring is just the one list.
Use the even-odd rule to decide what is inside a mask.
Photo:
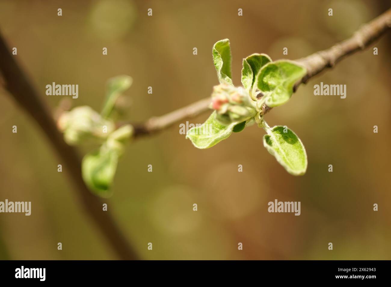
[[(295, 84), (293, 91), (295, 92), (301, 83), (306, 83), (308, 79), (319, 74), (326, 68), (331, 68), (339, 60), (343, 59), (347, 55), (350, 55), (359, 50), (364, 50), (371, 43), (381, 37), (387, 30), (391, 28), (391, 9), (373, 19), (371, 22), (363, 25), (357, 30), (352, 37), (337, 43), (323, 51), (316, 52), (305, 58), (294, 60), (298, 64), (301, 64), (307, 69), (307, 74)], [(134, 124), (135, 134), (137, 138), (140, 135), (150, 135), (182, 121), (185, 118), (195, 117), (205, 111), (208, 111), (208, 106), (211, 102), (211, 98), (204, 98), (198, 102), (192, 103), (186, 107), (170, 112), (160, 117), (153, 117), (147, 120), (145, 123)], [(262, 107), (264, 114), (271, 110), (270, 107), (264, 105)]]

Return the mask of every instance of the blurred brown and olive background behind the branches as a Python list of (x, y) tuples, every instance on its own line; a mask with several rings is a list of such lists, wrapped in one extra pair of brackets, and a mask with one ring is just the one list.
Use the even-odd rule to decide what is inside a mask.
[[(18, 62), (53, 110), (61, 96), (46, 96), (47, 84), (79, 84), (72, 104), (99, 111), (106, 80), (126, 74), (134, 80), (126, 93), (133, 102), (127, 119), (144, 121), (210, 95), (218, 83), (212, 46), (220, 39), (231, 41), (233, 81), (239, 86), (242, 58), (249, 54), (267, 53), (273, 60), (307, 56), (351, 36), (390, 4), (2, 0), (0, 30), (9, 47), (18, 48)], [(103, 47), (108, 55), (102, 55)], [(267, 114), (269, 125), (287, 125), (303, 141), (304, 176), (285, 172), (263, 147), (264, 131), (255, 126), (209, 150), (194, 148), (179, 134), (179, 125), (129, 145), (107, 203), (139, 255), (391, 259), (390, 50), (388, 33), (300, 86), (286, 105)], [(314, 96), (313, 86), (320, 82), (346, 84), (346, 99)], [(0, 94), (0, 201), (32, 201), (31, 216), (0, 214), (0, 259), (116, 259), (81, 209), (66, 171), (57, 172), (61, 162), (39, 127), (4, 89)], [(81, 155), (88, 150), (81, 147)], [(268, 213), (267, 203), (274, 199), (301, 201), (301, 215)], [(63, 250), (57, 250), (57, 242)], [(328, 250), (328, 242), (334, 250)]]

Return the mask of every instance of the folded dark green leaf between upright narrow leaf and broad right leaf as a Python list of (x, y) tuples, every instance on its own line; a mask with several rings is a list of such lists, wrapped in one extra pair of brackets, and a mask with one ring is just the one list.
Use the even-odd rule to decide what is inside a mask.
[(271, 59), (266, 54), (255, 53), (249, 55), (246, 59), (243, 59), (242, 84), (245, 89), (252, 91), (256, 75), (258, 75), (259, 70), (269, 62), (271, 62)]

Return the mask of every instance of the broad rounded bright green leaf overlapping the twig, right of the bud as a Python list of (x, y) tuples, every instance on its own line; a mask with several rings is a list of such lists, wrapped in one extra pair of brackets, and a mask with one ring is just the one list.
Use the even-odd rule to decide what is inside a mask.
[(294, 84), (303, 78), (306, 70), (291, 61), (280, 60), (266, 64), (257, 76), (257, 87), (265, 94), (265, 103), (276, 107), (291, 98)]

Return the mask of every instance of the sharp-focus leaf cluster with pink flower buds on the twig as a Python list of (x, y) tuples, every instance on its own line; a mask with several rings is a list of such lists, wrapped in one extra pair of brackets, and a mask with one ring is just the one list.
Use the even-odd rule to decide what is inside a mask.
[[(255, 53), (243, 59), (243, 87), (235, 87), (230, 41), (223, 39), (215, 43), (212, 55), (220, 82), (213, 87), (210, 107), (214, 111), (203, 125), (191, 128), (186, 138), (197, 148), (210, 148), (232, 132), (240, 132), (257, 123), (267, 132), (263, 139), (267, 151), (290, 174), (303, 175), (307, 170), (303, 143), (286, 126), (270, 128), (263, 118), (263, 111), (264, 105), (277, 107), (286, 103), (292, 96), (294, 85), (306, 75), (306, 69), (293, 61), (273, 62), (268, 55)], [(204, 125), (212, 125), (210, 132), (203, 129)]]

